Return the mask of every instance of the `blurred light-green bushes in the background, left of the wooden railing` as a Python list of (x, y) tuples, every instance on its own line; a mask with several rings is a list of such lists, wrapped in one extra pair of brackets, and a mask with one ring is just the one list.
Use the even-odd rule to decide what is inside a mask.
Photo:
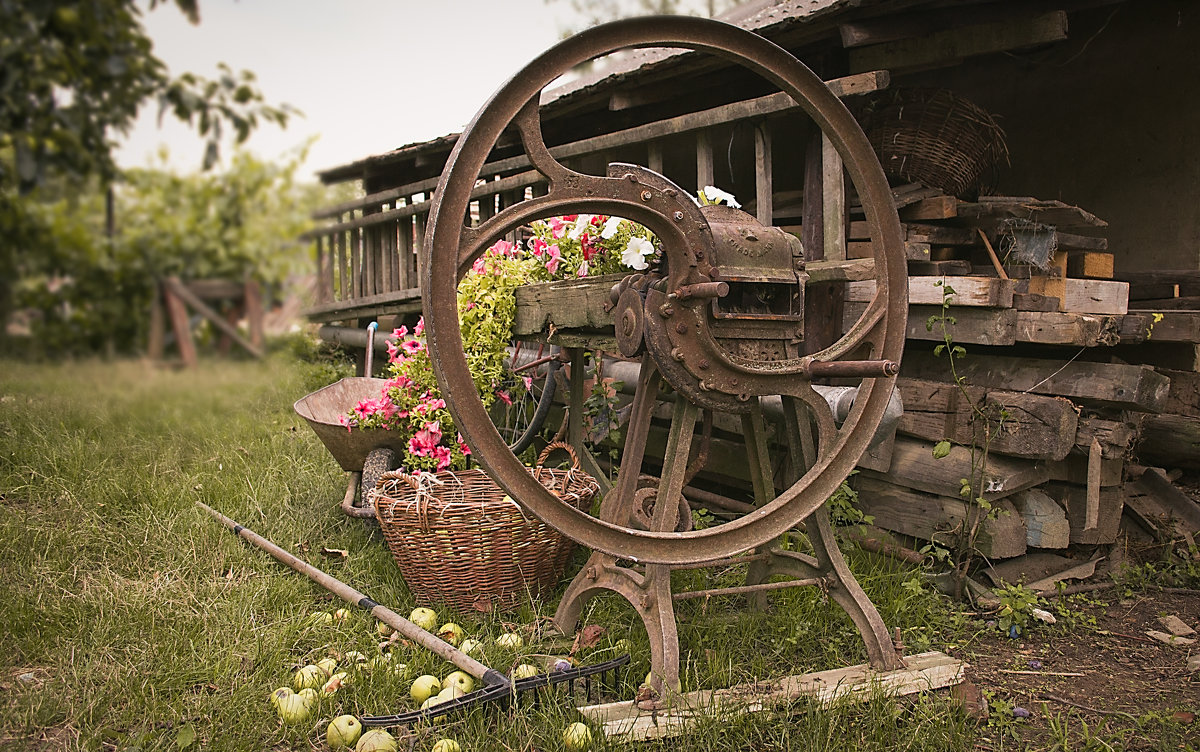
[(239, 152), (221, 173), (131, 170), (114, 187), (112, 237), (95, 180), (42, 189), (41, 200), (0, 192), (0, 222), (13, 230), (0, 242), (0, 277), (12, 283), (13, 306), (34, 313), (35, 343), (55, 354), (137, 351), (166, 276), (281, 288), (307, 269), (295, 239), (324, 200), (319, 186), (296, 182), (302, 158), (272, 164)]

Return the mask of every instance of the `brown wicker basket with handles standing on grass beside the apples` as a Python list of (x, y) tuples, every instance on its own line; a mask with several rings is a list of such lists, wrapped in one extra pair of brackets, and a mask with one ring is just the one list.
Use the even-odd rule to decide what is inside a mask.
[[(556, 449), (569, 470), (542, 467)], [(587, 510), (600, 491), (575, 451), (556, 443), (532, 470), (564, 504)], [(385, 473), (372, 492), (376, 517), (408, 589), (425, 603), (504, 610), (552, 589), (574, 542), (526, 512), (482, 470)]]

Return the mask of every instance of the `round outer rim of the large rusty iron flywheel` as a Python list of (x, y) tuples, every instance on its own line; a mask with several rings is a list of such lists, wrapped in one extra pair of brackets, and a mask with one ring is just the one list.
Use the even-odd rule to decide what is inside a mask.
[[(479, 463), (514, 498), (536, 517), (569, 537), (617, 557), (655, 564), (695, 564), (734, 555), (766, 543), (816, 510), (853, 470), (890, 398), (893, 378), (864, 380), (860, 397), (846, 419), (836, 440), (822, 443), (817, 463), (792, 487), (752, 515), (726, 524), (688, 533), (654, 533), (614, 525), (574, 510), (538, 483), (509, 451), (492, 427), (482, 403), (474, 397), (474, 384), (463, 355), (456, 307), (456, 283), (470, 261), (494, 240), (463, 227), (470, 191), (488, 154), (505, 127), (535, 107), (541, 90), (575, 65), (637, 47), (689, 48), (716, 54), (757, 72), (773, 82), (804, 109), (829, 137), (842, 156), (851, 180), (863, 197), (871, 237), (876, 240), (878, 293), (866, 313), (838, 343), (817, 354), (822, 359), (845, 355), (864, 339), (875, 344), (876, 355), (899, 361), (904, 349), (907, 318), (907, 273), (899, 219), (882, 168), (845, 106), (808, 67), (790, 53), (752, 32), (697, 18), (638, 18), (605, 24), (584, 31), (551, 48), (502, 86), (475, 115), (458, 138), (446, 162), (438, 200), (430, 212), (430, 229), (422, 248), (421, 285), (425, 319), (433, 368), (450, 403), (455, 421), (467, 438)], [(540, 139), (540, 132), (539, 132)], [(539, 143), (541, 150), (545, 144)], [(527, 143), (527, 151), (530, 151)], [(538, 167), (548, 154), (530, 152)], [(552, 164), (560, 168), (552, 158)], [(553, 185), (562, 174), (550, 175)], [(529, 204), (524, 201), (523, 204)], [(577, 206), (577, 204), (571, 204)], [(553, 200), (520, 209), (515, 205), (505, 219), (509, 227), (546, 216)], [(620, 213), (642, 222), (668, 242), (682, 239), (671, 222), (634, 204), (596, 200), (590, 209)], [(635, 211), (636, 210), (636, 211)], [(539, 212), (541, 212), (539, 215)], [(502, 212), (503, 215), (504, 212)], [(463, 249), (466, 247), (466, 251)], [(889, 294), (890, 291), (890, 294)], [(466, 397), (470, 395), (472, 397)], [(464, 398), (466, 397), (466, 398)]]

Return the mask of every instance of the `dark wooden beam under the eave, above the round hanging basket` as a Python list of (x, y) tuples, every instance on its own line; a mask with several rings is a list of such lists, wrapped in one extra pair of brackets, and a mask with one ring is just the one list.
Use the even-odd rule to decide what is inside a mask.
[(902, 70), (949, 65), (964, 58), (1021, 49), (1067, 38), (1067, 13), (1056, 11), (1007, 22), (937, 31), (850, 50), (850, 70)]

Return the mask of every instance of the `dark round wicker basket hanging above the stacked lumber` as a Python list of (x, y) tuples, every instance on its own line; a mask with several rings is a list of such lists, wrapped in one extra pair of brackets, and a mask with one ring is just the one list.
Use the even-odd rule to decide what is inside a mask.
[(1004, 132), (991, 115), (947, 89), (900, 89), (863, 116), (884, 174), (973, 199), (1008, 163)]

